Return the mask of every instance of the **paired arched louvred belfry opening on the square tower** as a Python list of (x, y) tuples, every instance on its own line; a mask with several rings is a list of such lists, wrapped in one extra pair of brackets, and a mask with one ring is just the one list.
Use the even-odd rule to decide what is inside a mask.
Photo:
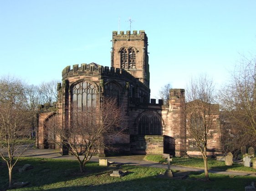
[(120, 51), (120, 63), (121, 69), (135, 69), (136, 68), (136, 54), (133, 48), (129, 48), (128, 51), (122, 48)]

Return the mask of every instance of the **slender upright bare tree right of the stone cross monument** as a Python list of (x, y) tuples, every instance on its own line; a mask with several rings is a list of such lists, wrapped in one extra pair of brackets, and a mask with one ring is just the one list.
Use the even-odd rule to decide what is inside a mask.
[(205, 180), (209, 181), (207, 142), (213, 129), (214, 85), (207, 76), (192, 78), (187, 88), (184, 117), (188, 139), (195, 142), (204, 159)]

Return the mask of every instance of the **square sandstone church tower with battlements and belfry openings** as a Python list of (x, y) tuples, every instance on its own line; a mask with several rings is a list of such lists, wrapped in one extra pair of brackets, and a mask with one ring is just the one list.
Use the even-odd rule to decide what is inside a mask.
[(111, 67), (125, 69), (149, 88), (148, 37), (144, 30), (113, 31)]

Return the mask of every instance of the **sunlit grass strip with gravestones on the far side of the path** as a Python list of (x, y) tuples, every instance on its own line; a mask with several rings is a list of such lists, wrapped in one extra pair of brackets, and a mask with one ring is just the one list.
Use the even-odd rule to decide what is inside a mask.
[[(145, 160), (152, 162), (166, 162), (163, 161), (162, 155), (147, 155)], [(174, 157), (171, 165), (182, 166), (182, 167), (197, 167), (204, 168), (203, 158), (179, 158)], [(232, 166), (226, 166), (224, 161), (217, 161), (212, 158), (208, 158), (208, 169), (219, 169), (227, 171), (247, 171), (247, 172), (256, 172), (256, 169), (250, 167), (244, 167), (242, 164), (233, 163)]]

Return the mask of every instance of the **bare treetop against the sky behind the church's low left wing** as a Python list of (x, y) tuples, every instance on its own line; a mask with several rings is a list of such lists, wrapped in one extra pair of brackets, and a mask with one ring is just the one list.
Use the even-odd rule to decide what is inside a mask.
[(42, 104), (48, 103), (49, 105), (52, 105), (53, 102), (58, 100), (57, 83), (59, 83), (59, 81), (51, 80), (40, 84), (39, 93)]

